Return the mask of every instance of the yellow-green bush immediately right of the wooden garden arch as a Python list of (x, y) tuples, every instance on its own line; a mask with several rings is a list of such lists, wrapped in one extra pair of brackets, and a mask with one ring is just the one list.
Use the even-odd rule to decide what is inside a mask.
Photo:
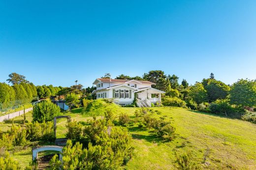
[(83, 125), (77, 121), (68, 121), (66, 124), (66, 137), (71, 140), (79, 141), (83, 135)]

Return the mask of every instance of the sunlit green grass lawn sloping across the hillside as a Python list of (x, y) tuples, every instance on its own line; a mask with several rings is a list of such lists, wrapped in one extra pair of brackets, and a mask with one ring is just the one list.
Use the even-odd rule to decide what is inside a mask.
[[(131, 119), (137, 108), (122, 108)], [(131, 124), (127, 128), (133, 137), (134, 155), (128, 162), (127, 170), (170, 170), (174, 169), (175, 152), (193, 150), (198, 163), (203, 161), (207, 150), (206, 162), (211, 170), (255, 170), (256, 169), (256, 124), (228, 119), (213, 114), (200, 113), (176, 107), (153, 107), (149, 114), (171, 121), (179, 136), (165, 142), (157, 138), (150, 130)], [(92, 119), (79, 114), (76, 109), (66, 115), (76, 121)], [(157, 111), (157, 112), (156, 112)], [(31, 113), (27, 113), (31, 120)], [(15, 118), (15, 123), (22, 123), (23, 117)], [(65, 119), (58, 120), (57, 137), (64, 137)], [(0, 124), (1, 131), (6, 131), (11, 121)], [(30, 147), (13, 152), (15, 159), (25, 167), (32, 159)]]

